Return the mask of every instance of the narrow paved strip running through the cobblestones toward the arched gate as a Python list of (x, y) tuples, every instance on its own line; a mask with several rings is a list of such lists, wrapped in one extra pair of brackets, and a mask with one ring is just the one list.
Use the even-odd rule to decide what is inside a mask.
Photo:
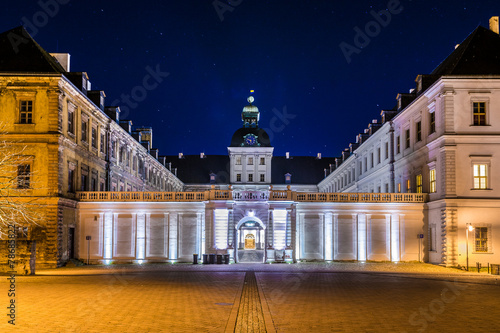
[(262, 304), (253, 271), (245, 274), (234, 332), (267, 332)]

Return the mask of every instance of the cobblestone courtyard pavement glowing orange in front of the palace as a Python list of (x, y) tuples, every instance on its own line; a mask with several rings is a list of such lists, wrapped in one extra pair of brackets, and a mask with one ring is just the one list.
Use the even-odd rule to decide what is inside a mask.
[(498, 276), (426, 264), (302, 263), (39, 271), (16, 277), (15, 327), (1, 276), (0, 332), (233, 331), (250, 271), (258, 288), (248, 297), (260, 299), (267, 332), (500, 331)]

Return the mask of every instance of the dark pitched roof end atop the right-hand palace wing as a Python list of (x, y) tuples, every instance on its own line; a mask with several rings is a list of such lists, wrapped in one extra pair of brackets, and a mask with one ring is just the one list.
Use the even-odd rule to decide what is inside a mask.
[(431, 74), (500, 75), (500, 36), (478, 26)]

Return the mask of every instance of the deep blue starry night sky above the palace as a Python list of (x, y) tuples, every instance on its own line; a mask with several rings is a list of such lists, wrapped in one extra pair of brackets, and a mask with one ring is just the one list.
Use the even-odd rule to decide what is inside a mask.
[[(23, 24), (47, 51), (70, 53), (71, 70), (86, 71), (122, 119), (153, 127), (160, 155), (227, 154), (253, 89), (275, 155), (335, 157), (418, 74), (500, 15), (498, 0), (230, 3), (9, 1), (0, 28)], [(385, 26), (374, 24), (372, 11), (387, 8)], [(366, 27), (372, 37), (358, 48), (355, 28)], [(150, 72), (157, 81), (145, 85)]]

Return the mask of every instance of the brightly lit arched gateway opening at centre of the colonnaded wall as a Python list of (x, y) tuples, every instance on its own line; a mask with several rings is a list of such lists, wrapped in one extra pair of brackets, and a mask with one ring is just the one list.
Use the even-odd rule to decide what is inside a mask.
[(265, 225), (254, 216), (247, 216), (236, 225), (236, 255), (238, 263), (265, 261)]

